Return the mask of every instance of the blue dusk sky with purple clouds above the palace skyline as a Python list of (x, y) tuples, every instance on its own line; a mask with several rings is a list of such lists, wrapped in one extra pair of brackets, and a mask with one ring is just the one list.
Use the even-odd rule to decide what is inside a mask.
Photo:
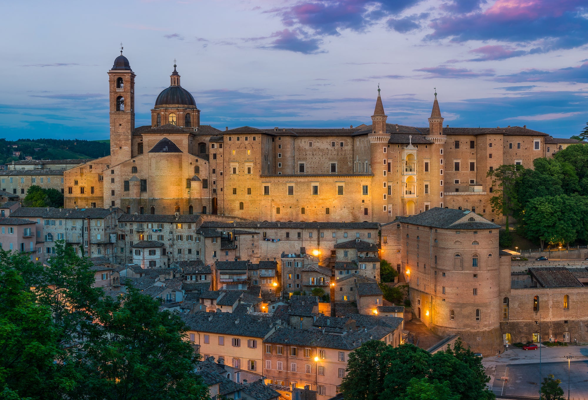
[[(4, 2), (0, 137), (108, 139), (108, 75), (136, 74), (136, 126), (177, 60), (218, 129), (387, 121), (527, 128), (569, 138), (588, 121), (586, 0)], [(25, 18), (26, 16), (26, 18)], [(436, 89), (435, 89), (436, 88)]]

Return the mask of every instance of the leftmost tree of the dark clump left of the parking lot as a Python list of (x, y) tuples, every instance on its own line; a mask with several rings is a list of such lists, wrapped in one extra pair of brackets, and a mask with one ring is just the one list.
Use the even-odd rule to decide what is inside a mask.
[(341, 391), (348, 400), (379, 400), (388, 370), (385, 353), (390, 346), (382, 341), (368, 341), (349, 354)]

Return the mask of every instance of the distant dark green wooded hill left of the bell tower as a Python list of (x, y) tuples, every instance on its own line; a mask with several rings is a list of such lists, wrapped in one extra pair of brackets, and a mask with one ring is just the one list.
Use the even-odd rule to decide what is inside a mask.
[[(20, 152), (15, 155), (13, 152)], [(0, 164), (33, 159), (81, 159), (100, 158), (110, 154), (110, 141), (69, 139), (0, 139)]]

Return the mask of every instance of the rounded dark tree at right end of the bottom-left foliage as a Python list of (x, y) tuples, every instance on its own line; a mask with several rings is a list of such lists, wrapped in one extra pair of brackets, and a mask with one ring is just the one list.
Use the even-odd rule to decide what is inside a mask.
[[(208, 388), (195, 373), (199, 355), (185, 340), (176, 313), (131, 288), (122, 298), (106, 297), (94, 329), (82, 344), (78, 398), (205, 399)], [(86, 388), (92, 388), (88, 395)]]

